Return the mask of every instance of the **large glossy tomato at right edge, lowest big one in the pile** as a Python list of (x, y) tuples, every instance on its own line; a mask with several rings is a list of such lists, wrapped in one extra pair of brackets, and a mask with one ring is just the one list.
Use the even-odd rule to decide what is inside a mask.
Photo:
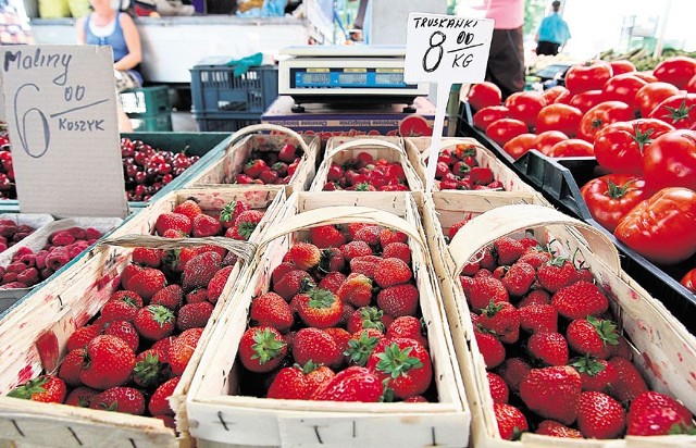
[(696, 252), (696, 192), (663, 188), (633, 208), (614, 236), (658, 264), (675, 264)]

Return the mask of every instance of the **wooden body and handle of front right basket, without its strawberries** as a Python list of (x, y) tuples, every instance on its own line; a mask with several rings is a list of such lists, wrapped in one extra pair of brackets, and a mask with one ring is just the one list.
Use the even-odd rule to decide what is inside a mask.
[[(462, 203), (462, 207), (464, 204)], [(478, 352), (467, 299), (457, 281), (463, 265), (478, 250), (496, 238), (526, 233), (564, 253), (577, 250), (580, 260), (589, 266), (597, 284), (610, 291), (610, 308), (624, 336), (632, 343), (634, 363), (650, 388), (680, 399), (692, 412), (696, 410), (696, 340), (667, 309), (650, 297), (620, 267), (619, 256), (606, 236), (594, 227), (563, 215), (551, 208), (512, 204), (495, 208), (474, 217), (457, 234), (448, 251), (439, 252), (444, 242), (437, 220), (439, 209), (425, 202), (424, 223), (433, 258), (442, 254), (438, 266), (443, 297), (449, 320), (457, 359), (464, 377), (472, 408), (472, 434), (481, 447), (684, 447), (695, 446), (689, 436), (633, 437), (624, 439), (559, 439), (523, 433), (520, 441), (500, 438), (493, 413), (493, 400), (486, 379), (483, 357)], [(442, 213), (440, 213), (442, 215)]]

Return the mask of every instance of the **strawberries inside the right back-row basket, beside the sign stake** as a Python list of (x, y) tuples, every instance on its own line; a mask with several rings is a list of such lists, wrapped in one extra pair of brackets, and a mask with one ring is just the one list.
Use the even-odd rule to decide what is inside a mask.
[(440, 190), (492, 190), (502, 189), (493, 170), (478, 166), (476, 147), (457, 145), (455, 150), (444, 149), (437, 158), (435, 179)]

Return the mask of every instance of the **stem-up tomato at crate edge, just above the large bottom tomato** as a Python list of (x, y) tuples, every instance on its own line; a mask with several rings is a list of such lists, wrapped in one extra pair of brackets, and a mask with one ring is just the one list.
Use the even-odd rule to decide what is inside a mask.
[(597, 177), (585, 184), (580, 192), (592, 217), (612, 233), (631, 209), (650, 197), (645, 189), (645, 181), (631, 174)]

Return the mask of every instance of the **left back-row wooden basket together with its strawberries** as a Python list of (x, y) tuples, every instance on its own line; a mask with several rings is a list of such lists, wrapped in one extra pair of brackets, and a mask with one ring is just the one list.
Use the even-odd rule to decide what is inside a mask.
[(306, 191), (314, 178), (321, 149), (319, 137), (300, 136), (272, 124), (247, 126), (233, 135), (228, 145), (220, 158), (187, 174), (182, 186), (276, 185)]

